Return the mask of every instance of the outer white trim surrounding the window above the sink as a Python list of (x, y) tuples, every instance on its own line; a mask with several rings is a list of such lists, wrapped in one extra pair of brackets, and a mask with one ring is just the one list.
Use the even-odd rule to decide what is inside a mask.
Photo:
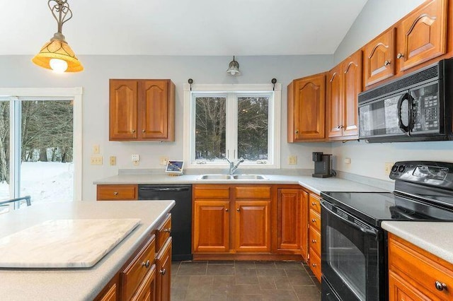
[(193, 108), (192, 104), (192, 93), (197, 92), (216, 92), (216, 93), (251, 93), (251, 92), (274, 92), (273, 105), (269, 107), (270, 113), (274, 114), (274, 118), (270, 119), (270, 122), (275, 122), (273, 124), (273, 133), (271, 138), (273, 139), (273, 149), (270, 149), (270, 152), (274, 155), (273, 164), (241, 164), (242, 169), (270, 169), (270, 168), (280, 168), (280, 126), (281, 126), (281, 107), (282, 107), (282, 84), (276, 83), (275, 87), (272, 84), (193, 84), (189, 85), (188, 83), (184, 84), (184, 99), (183, 99), (183, 159), (185, 162), (185, 168), (193, 169), (218, 169), (228, 168), (228, 163), (225, 161), (224, 164), (193, 164), (190, 160), (191, 154), (190, 150), (192, 143), (191, 136), (193, 129)]

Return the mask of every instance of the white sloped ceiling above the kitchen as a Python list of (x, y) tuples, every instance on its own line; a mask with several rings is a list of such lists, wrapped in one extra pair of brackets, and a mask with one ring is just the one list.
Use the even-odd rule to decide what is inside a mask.
[[(333, 54), (367, 0), (69, 0), (76, 54)], [(0, 0), (0, 55), (57, 31), (47, 0)]]

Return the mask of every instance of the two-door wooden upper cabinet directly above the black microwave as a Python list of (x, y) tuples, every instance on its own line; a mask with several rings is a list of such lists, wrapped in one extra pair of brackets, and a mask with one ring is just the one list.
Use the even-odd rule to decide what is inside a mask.
[(447, 0), (425, 1), (363, 47), (365, 87), (447, 52)]

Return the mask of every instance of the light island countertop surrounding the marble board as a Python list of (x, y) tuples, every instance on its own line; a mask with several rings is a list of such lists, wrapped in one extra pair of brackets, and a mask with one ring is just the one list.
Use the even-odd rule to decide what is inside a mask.
[(93, 300), (156, 229), (175, 201), (33, 203), (0, 216), (0, 238), (55, 219), (138, 218), (137, 228), (91, 268), (0, 268), (5, 300)]

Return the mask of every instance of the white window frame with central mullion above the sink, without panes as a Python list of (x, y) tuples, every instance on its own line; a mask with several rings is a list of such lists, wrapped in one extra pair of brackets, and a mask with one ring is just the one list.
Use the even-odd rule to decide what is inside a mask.
[[(269, 95), (269, 127), (270, 132), (268, 135), (268, 162), (266, 164), (248, 163), (244, 162), (241, 164), (241, 169), (271, 169), (280, 168), (280, 124), (281, 124), (281, 98), (282, 98), (282, 85), (280, 83), (271, 84), (197, 84), (197, 85), (184, 85), (184, 120), (183, 120), (183, 159), (185, 161), (185, 167), (190, 169), (218, 169), (228, 168), (229, 164), (224, 162), (215, 162), (209, 164), (196, 164), (193, 161), (193, 151), (195, 150), (195, 98), (197, 96), (206, 97), (222, 97), (226, 96), (226, 112), (231, 110), (237, 112), (237, 102), (231, 101), (231, 95), (234, 98), (241, 98), (243, 96), (250, 96), (255, 93), (256, 95)], [(230, 100), (230, 101), (229, 101)], [(231, 126), (237, 125), (237, 113), (233, 117), (226, 117), (226, 129)], [(237, 148), (237, 131), (234, 133), (226, 134), (226, 152), (228, 153), (228, 147), (231, 146), (231, 139), (234, 139), (233, 144)], [(237, 150), (236, 150), (237, 152)], [(228, 154), (227, 154), (228, 155)], [(229, 158), (237, 161), (238, 158), (229, 153)]]

